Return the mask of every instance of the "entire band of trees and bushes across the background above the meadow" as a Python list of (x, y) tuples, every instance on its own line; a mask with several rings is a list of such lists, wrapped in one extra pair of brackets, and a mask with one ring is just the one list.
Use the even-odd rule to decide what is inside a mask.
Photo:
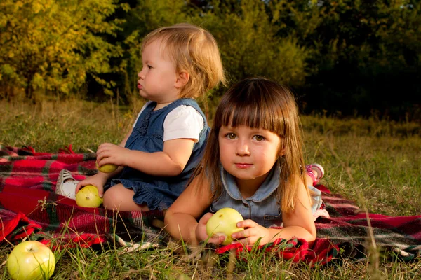
[(0, 98), (131, 102), (142, 38), (192, 22), (217, 39), (230, 83), (277, 80), (300, 95), (305, 113), (420, 120), (420, 19), (415, 0), (4, 0)]

